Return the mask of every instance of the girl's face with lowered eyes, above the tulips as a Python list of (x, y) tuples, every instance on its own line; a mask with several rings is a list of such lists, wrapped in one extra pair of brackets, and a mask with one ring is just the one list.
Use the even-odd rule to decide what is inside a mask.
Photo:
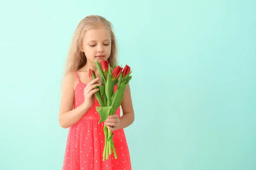
[(111, 53), (110, 32), (105, 28), (86, 31), (81, 51), (84, 52), (87, 62), (107, 60)]

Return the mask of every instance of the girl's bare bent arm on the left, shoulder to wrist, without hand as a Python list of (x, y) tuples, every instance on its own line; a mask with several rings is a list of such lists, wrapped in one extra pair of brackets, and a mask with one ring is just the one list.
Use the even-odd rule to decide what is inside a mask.
[(59, 124), (63, 128), (68, 128), (76, 124), (84, 113), (89, 110), (89, 108), (84, 106), (84, 103), (73, 109), (75, 80), (76, 77), (72, 73), (67, 74), (66, 77), (64, 77), (61, 106), (58, 117)]

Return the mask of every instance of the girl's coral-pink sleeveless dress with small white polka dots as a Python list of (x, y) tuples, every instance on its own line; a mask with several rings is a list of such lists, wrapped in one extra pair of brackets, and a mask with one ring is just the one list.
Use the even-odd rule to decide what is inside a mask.
[[(75, 72), (78, 84), (75, 88), (74, 108), (84, 102), (86, 84), (80, 82)], [(114, 91), (116, 91), (116, 86)], [(113, 142), (117, 159), (113, 151), (109, 159), (103, 161), (105, 135), (104, 123), (98, 123), (99, 113), (96, 111), (99, 102), (95, 98), (93, 107), (68, 131), (66, 150), (62, 170), (131, 170), (131, 160), (123, 129), (113, 131)], [(116, 114), (120, 117), (120, 107)]]

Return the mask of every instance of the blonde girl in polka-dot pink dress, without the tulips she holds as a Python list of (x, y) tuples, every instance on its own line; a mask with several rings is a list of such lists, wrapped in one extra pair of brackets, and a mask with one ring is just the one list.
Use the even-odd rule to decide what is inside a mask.
[[(116, 38), (112, 24), (104, 17), (91, 15), (80, 21), (71, 43), (67, 71), (64, 76), (59, 124), (69, 128), (64, 155), (63, 170), (131, 170), (131, 161), (124, 128), (134, 122), (134, 110), (129, 85), (126, 86), (120, 107), (103, 123), (96, 106), (94, 93), (101, 85), (99, 71), (93, 63), (108, 60), (116, 63)], [(90, 81), (89, 69), (95, 71), (97, 79)], [(95, 84), (96, 83), (96, 84)], [(116, 91), (116, 86), (114, 91)], [(113, 133), (117, 159), (113, 151), (103, 161), (105, 135), (103, 126)]]

